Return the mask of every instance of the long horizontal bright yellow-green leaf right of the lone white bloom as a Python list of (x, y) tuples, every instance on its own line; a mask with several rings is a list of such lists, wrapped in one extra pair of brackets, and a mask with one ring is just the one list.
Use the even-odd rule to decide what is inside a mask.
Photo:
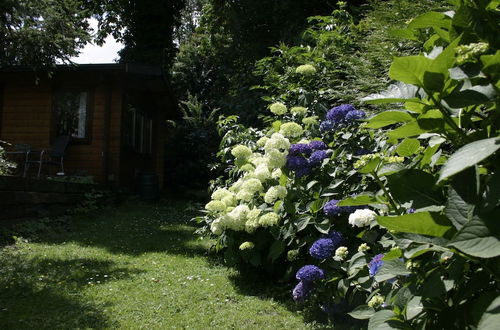
[(447, 217), (439, 213), (416, 212), (396, 217), (378, 216), (377, 222), (388, 230), (435, 237), (451, 237), (455, 228)]

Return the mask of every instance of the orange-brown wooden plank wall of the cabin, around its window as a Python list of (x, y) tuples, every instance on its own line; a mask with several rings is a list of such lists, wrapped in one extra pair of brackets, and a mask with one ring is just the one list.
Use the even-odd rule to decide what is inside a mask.
[[(32, 79), (29, 79), (32, 77)], [(91, 129), (88, 142), (70, 142), (65, 154), (65, 172), (69, 175), (91, 175), (96, 181), (119, 178), (121, 86), (110, 79), (102, 79), (92, 72), (68, 72), (53, 79), (41, 79), (35, 84), (33, 74), (12, 75), (4, 82), (0, 139), (12, 144), (27, 143), (35, 148), (48, 148), (54, 127), (53, 92), (59, 87), (86, 87), (91, 92)], [(111, 94), (110, 94), (111, 93)], [(107, 97), (109, 100), (107, 100)], [(109, 104), (110, 103), (110, 104)], [(109, 105), (108, 105), (109, 104)], [(105, 111), (110, 106), (109, 127), (105, 127)], [(105, 130), (109, 130), (108, 169), (104, 164)], [(34, 165), (30, 173), (35, 172)], [(54, 174), (54, 166), (44, 167), (43, 174)], [(35, 172), (36, 173), (36, 172)]]

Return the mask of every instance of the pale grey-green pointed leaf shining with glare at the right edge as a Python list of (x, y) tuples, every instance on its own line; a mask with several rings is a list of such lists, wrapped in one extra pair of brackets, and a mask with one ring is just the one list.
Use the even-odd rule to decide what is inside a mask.
[(490, 138), (469, 143), (458, 149), (441, 169), (438, 182), (480, 163), (500, 148), (500, 138)]

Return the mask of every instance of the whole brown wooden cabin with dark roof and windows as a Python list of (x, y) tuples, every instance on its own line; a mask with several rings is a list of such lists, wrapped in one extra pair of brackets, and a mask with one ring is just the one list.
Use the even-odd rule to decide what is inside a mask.
[(50, 75), (0, 69), (0, 140), (47, 148), (69, 135), (66, 175), (132, 188), (148, 172), (162, 183), (165, 119), (174, 112), (159, 67), (59, 65)]

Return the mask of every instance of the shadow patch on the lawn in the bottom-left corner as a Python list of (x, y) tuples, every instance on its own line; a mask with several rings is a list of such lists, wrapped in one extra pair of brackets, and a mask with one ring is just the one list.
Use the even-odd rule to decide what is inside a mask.
[[(82, 290), (139, 273), (93, 259), (34, 259), (3, 251), (0, 255), (0, 324), (2, 329), (102, 329), (111, 327), (107, 307)], [(90, 284), (89, 284), (90, 282)]]

